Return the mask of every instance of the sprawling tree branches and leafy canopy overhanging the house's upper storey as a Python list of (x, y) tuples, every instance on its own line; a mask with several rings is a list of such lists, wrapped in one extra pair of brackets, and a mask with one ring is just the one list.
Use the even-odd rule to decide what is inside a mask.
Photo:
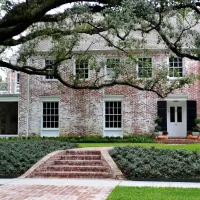
[[(64, 11), (49, 12), (63, 5)], [(153, 78), (138, 79), (133, 66), (138, 64), (138, 56), (148, 57), (152, 38), (154, 45), (162, 46), (169, 54), (200, 60), (199, 6), (200, 2), (194, 0), (1, 0), (0, 65), (27, 74), (50, 74), (74, 89), (120, 84), (165, 97), (191, 84), (194, 76), (169, 81), (167, 65), (162, 63), (153, 66)], [(116, 76), (109, 81), (104, 80), (105, 59), (92, 51), (96, 40), (113, 50), (115, 57), (126, 57), (113, 68)], [(20, 53), (13, 64), (5, 55), (16, 46), (20, 46)], [(36, 57), (52, 57), (52, 70), (30, 59)], [(70, 71), (72, 58), (90, 60), (90, 81), (80, 80)]]

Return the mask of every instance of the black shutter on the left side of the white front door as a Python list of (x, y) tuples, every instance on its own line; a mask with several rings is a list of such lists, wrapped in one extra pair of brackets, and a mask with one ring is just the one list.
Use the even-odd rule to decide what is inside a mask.
[(162, 131), (167, 131), (167, 101), (157, 101), (157, 109), (157, 115), (162, 118), (158, 125), (162, 127)]

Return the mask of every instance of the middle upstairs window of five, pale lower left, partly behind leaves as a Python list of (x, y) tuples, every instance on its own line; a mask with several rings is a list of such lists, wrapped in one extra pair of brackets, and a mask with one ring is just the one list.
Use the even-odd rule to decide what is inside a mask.
[(119, 58), (110, 58), (106, 61), (106, 78), (117, 79), (120, 76)]

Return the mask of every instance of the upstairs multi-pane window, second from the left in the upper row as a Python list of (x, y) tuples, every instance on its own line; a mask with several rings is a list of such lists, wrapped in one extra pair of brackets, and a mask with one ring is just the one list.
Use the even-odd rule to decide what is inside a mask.
[(77, 79), (89, 79), (88, 60), (77, 60), (75, 73)]

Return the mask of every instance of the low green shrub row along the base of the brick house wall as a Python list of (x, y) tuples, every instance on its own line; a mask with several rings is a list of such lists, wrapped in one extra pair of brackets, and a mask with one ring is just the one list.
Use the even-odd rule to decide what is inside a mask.
[[(43, 140), (46, 138), (41, 137), (22, 137), (22, 138), (8, 138), (9, 141), (18, 141), (18, 140)], [(125, 136), (124, 138), (120, 137), (102, 137), (102, 136), (67, 136), (67, 137), (52, 137), (48, 138), (49, 140), (63, 141), (63, 142), (72, 142), (72, 143), (153, 143), (154, 137), (152, 135), (138, 135), (138, 136)], [(5, 139), (0, 139), (5, 140)]]

